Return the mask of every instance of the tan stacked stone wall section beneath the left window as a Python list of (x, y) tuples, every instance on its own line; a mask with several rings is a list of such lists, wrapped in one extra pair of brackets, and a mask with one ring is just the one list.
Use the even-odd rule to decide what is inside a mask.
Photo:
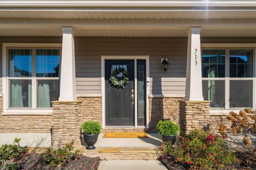
[[(22, 115), (23, 114), (23, 115)], [(50, 133), (51, 115), (3, 114), (3, 96), (0, 96), (0, 133)]]

